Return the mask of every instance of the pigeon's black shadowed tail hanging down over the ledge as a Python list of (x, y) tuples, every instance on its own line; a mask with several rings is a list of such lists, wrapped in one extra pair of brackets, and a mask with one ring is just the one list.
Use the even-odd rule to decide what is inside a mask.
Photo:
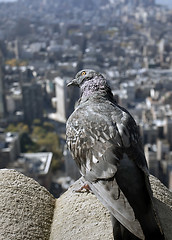
[[(134, 178), (133, 178), (134, 176)], [(148, 174), (123, 158), (115, 175), (117, 184), (134, 210), (146, 240), (164, 240)]]

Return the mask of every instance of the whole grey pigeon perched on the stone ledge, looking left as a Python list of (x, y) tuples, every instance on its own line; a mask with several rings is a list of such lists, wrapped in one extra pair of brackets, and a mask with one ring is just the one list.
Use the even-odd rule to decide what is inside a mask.
[(165, 239), (135, 120), (114, 100), (102, 74), (81, 70), (71, 85), (81, 96), (66, 123), (67, 146), (89, 188), (110, 211), (114, 239)]

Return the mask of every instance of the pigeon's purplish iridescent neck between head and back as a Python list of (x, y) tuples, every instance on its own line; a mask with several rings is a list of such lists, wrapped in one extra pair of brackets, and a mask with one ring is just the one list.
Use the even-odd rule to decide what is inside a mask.
[(102, 76), (95, 76), (94, 78), (85, 81), (81, 85), (81, 98), (89, 98), (94, 94), (106, 96), (112, 95), (110, 87)]

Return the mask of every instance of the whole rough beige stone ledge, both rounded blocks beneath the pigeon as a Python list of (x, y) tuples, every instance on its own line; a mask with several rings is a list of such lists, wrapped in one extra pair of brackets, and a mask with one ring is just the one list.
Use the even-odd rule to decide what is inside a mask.
[[(166, 240), (172, 240), (172, 193), (155, 177), (150, 182)], [(55, 200), (33, 179), (0, 170), (0, 240), (113, 240), (108, 211), (93, 194), (76, 193), (82, 185), (80, 178)]]

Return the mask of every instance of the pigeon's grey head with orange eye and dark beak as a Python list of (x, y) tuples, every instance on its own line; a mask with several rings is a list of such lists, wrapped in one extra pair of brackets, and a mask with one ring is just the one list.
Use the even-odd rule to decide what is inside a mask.
[(67, 84), (67, 86), (74, 85), (81, 87), (81, 85), (86, 81), (90, 81), (91, 79), (94, 79), (96, 76), (100, 75), (101, 74), (91, 69), (81, 70), (76, 74), (75, 78)]

